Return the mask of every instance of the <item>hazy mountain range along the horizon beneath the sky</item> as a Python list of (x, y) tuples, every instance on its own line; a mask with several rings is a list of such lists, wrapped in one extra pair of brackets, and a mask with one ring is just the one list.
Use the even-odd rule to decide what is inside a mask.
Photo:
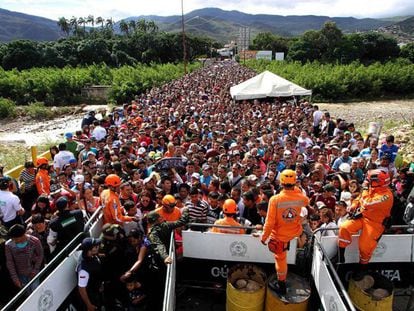
[[(407, 16), (407, 18), (410, 16)], [(157, 16), (140, 15), (125, 18), (153, 20), (160, 30), (181, 32), (181, 15)], [(259, 32), (270, 31), (281, 36), (298, 36), (307, 30), (321, 29), (326, 21), (334, 21), (345, 33), (356, 31), (376, 30), (389, 27), (395, 20), (404, 21), (403, 17), (387, 19), (354, 17), (329, 17), (318, 15), (270, 15), (249, 14), (237, 10), (225, 11), (219, 8), (204, 8), (191, 11), (184, 16), (186, 31), (190, 34), (212, 37), (222, 43), (236, 40), (240, 26), (248, 26), (251, 39)], [(13, 12), (0, 8), (0, 41), (7, 42), (16, 39), (37, 41), (53, 41), (63, 36), (57, 21), (44, 17)], [(115, 29), (119, 32), (119, 22)]]

